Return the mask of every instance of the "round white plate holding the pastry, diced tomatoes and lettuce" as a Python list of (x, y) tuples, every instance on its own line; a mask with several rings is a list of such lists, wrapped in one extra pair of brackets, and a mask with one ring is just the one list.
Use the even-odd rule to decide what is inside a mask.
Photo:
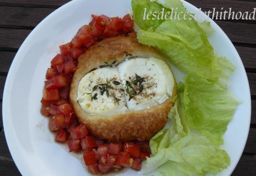
[[(185, 2), (190, 12), (198, 9)], [(90, 22), (91, 14), (124, 16), (132, 11), (130, 0), (74, 0), (46, 17), (26, 38), (16, 54), (7, 76), (3, 98), (3, 121), (6, 140), (12, 157), (25, 176), (87, 175), (84, 164), (64, 146), (54, 142), (48, 120), (40, 115), (40, 100), (46, 69), (59, 50), (69, 42), (80, 26)], [(230, 166), (218, 175), (227, 176), (234, 170), (246, 143), (250, 126), (250, 89), (241, 59), (224, 32), (212, 20), (216, 30), (209, 40), (214, 51), (226, 56), (236, 66), (229, 85), (230, 91), (243, 100), (224, 134), (224, 148), (231, 159)], [(184, 74), (174, 68), (180, 81)], [(133, 175), (127, 170), (121, 175)]]

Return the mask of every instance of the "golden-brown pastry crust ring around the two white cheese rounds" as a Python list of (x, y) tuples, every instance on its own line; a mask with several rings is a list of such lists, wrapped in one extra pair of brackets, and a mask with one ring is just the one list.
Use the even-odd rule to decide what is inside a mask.
[(162, 104), (145, 110), (128, 110), (124, 114), (112, 117), (92, 116), (87, 114), (76, 100), (78, 84), (86, 73), (105, 65), (104, 62), (113, 63), (116, 61), (115, 65), (118, 65), (126, 60), (126, 53), (142, 58), (156, 57), (166, 62), (155, 48), (140, 44), (136, 38), (113, 37), (104, 39), (94, 44), (78, 58), (78, 65), (70, 87), (70, 103), (78, 120), (99, 138), (113, 142), (135, 139), (150, 140), (165, 126), (167, 114), (174, 106), (170, 100), (177, 94), (175, 78), (172, 96)]

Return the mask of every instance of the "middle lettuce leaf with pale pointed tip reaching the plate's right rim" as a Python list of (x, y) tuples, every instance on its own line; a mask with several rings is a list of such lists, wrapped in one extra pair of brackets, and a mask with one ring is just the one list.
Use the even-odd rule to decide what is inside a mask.
[(184, 80), (184, 96), (189, 103), (183, 118), (214, 145), (223, 144), (222, 136), (241, 101), (217, 84), (194, 74), (188, 74)]

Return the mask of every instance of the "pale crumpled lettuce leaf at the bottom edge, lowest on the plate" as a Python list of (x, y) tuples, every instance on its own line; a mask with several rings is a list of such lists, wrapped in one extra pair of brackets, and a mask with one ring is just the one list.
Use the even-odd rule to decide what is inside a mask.
[[(216, 174), (230, 164), (230, 158), (225, 150), (215, 147), (210, 140), (204, 136), (188, 134), (181, 137), (173, 128), (161, 130), (158, 137), (150, 140), (152, 142), (166, 141), (168, 145), (154, 146), (158, 152), (147, 158), (142, 173), (154, 176), (176, 176), (202, 174), (210, 172)], [(173, 140), (169, 135), (180, 136)]]

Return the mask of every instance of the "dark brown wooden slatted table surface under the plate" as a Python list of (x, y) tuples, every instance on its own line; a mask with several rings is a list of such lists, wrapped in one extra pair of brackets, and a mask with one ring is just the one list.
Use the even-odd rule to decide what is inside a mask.
[[(187, 0), (198, 8), (252, 12), (256, 0)], [(48, 14), (69, 0), (0, 0), (0, 106), (4, 83), (20, 45)], [(107, 8), (107, 7), (106, 7)], [(217, 20), (244, 64), (251, 90), (252, 118), (246, 147), (232, 176), (256, 175), (256, 20)], [(242, 118), (242, 117), (241, 117)], [(26, 158), (24, 158), (26, 160)], [(6, 144), (0, 108), (0, 176), (20, 175)]]

